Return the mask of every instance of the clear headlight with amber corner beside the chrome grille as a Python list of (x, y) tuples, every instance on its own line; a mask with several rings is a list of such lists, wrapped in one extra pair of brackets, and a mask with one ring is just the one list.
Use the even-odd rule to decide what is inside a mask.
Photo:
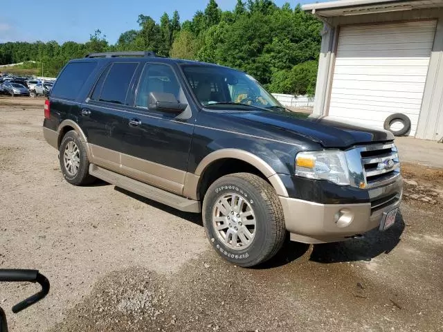
[(296, 175), (327, 180), (337, 185), (350, 185), (349, 169), (343, 151), (299, 152), (296, 156)]

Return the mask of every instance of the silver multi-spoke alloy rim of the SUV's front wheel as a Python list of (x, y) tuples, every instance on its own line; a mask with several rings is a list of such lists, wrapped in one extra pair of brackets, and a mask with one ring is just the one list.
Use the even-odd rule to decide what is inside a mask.
[(250, 246), (257, 229), (251, 205), (235, 193), (223, 194), (215, 203), (213, 227), (219, 241), (233, 250)]

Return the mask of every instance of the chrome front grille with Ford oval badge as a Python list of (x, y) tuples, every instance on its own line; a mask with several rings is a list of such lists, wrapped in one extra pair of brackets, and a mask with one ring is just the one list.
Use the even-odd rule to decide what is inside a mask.
[(365, 187), (378, 187), (399, 177), (399, 155), (394, 143), (367, 145), (361, 149), (360, 154)]

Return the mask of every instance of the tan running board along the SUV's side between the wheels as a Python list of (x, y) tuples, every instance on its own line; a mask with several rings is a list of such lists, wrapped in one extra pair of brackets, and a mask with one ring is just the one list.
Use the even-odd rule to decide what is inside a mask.
[(127, 176), (109, 171), (108, 169), (97, 165), (89, 165), (89, 174), (96, 178), (100, 178), (107, 183), (111, 183), (111, 185), (116, 185), (116, 187), (123, 188), (129, 192), (134, 192), (147, 199), (152, 199), (152, 201), (168, 205), (171, 208), (184, 212), (201, 212), (199, 201), (186, 199), (185, 197), (152, 187), (152, 185), (147, 185), (146, 183), (134, 180), (133, 178), (128, 178)]

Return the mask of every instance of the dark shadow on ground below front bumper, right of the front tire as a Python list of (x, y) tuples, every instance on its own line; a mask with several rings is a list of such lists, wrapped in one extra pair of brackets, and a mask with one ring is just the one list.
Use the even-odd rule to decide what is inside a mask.
[(401, 212), (395, 224), (385, 232), (377, 228), (365, 233), (363, 239), (350, 239), (344, 242), (323, 243), (313, 246), (310, 261), (328, 264), (346, 261), (370, 261), (372, 258), (388, 254), (401, 241), (405, 223)]

